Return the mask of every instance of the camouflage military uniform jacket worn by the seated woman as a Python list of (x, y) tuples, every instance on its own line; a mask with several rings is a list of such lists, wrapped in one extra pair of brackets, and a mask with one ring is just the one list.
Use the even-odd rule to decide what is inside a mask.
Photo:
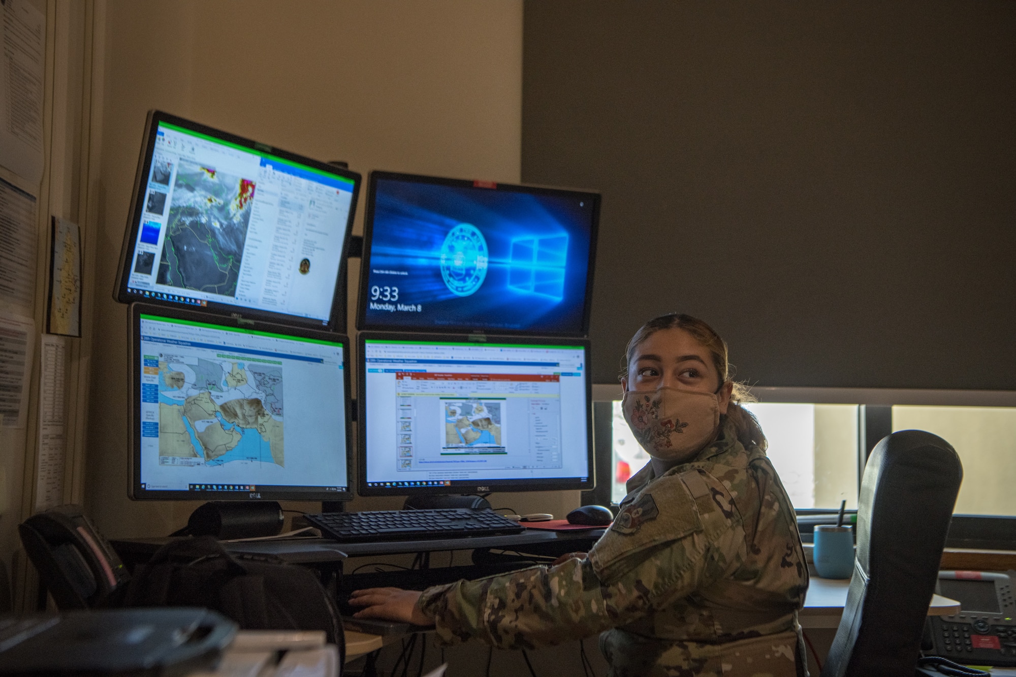
[(790, 501), (765, 452), (723, 421), (691, 463), (628, 484), (584, 560), (424, 592), (445, 642), (533, 648), (604, 632), (614, 677), (793, 677), (808, 590)]

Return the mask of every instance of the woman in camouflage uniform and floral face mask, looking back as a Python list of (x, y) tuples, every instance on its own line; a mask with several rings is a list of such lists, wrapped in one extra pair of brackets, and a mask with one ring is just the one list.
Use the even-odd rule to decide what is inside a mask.
[(588, 554), (422, 594), (358, 591), (357, 616), (500, 649), (602, 632), (614, 677), (807, 674), (797, 520), (726, 345), (694, 317), (657, 317), (629, 343), (621, 383), (650, 463)]

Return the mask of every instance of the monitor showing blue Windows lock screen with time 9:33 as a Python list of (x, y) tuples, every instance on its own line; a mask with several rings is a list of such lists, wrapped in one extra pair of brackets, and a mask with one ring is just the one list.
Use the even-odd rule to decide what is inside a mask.
[(584, 336), (599, 194), (371, 172), (358, 326)]

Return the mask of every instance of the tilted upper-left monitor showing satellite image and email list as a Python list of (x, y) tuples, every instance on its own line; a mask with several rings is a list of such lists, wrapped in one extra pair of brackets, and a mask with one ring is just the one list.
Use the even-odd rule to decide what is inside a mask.
[(152, 111), (114, 296), (344, 331), (360, 181)]

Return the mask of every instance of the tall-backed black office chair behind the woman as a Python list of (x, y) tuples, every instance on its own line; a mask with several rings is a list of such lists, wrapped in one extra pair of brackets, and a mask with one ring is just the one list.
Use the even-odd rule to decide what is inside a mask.
[(822, 677), (910, 677), (963, 467), (941, 437), (902, 430), (865, 467), (858, 552)]

